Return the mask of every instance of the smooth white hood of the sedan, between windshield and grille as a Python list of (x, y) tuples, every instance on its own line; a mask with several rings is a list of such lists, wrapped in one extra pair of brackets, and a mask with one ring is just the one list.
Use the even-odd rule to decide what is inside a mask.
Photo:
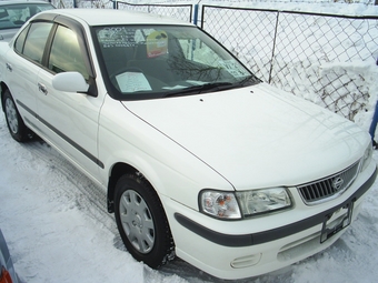
[(352, 122), (266, 83), (123, 104), (236, 190), (324, 178), (357, 161), (369, 142)]

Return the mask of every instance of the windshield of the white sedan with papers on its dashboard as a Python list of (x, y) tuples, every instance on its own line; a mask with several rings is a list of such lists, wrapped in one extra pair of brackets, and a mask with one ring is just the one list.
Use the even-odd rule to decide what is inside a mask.
[(100, 27), (94, 33), (105, 81), (120, 100), (190, 95), (260, 82), (196, 27)]

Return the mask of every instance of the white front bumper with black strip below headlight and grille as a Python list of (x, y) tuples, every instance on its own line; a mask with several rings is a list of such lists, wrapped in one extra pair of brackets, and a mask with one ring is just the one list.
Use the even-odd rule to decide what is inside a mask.
[[(357, 218), (362, 196), (376, 176), (376, 165), (371, 164), (346, 193), (326, 204), (311, 208), (298, 204), (287, 215), (277, 213), (242, 221), (209, 219), (171, 201), (167, 214), (176, 253), (221, 279), (250, 277), (290, 265), (325, 250), (341, 236), (344, 228)], [(350, 219), (344, 225), (346, 215)]]

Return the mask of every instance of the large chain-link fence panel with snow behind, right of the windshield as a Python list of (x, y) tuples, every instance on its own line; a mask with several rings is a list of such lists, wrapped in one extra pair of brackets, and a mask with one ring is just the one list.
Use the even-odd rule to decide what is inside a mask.
[(201, 27), (266, 82), (350, 120), (378, 81), (378, 17), (203, 6)]

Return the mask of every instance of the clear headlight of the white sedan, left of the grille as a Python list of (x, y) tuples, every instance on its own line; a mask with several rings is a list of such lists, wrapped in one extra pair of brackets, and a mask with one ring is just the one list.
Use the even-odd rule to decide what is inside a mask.
[(222, 192), (203, 190), (199, 195), (201, 212), (217, 219), (236, 220), (291, 206), (284, 188)]

